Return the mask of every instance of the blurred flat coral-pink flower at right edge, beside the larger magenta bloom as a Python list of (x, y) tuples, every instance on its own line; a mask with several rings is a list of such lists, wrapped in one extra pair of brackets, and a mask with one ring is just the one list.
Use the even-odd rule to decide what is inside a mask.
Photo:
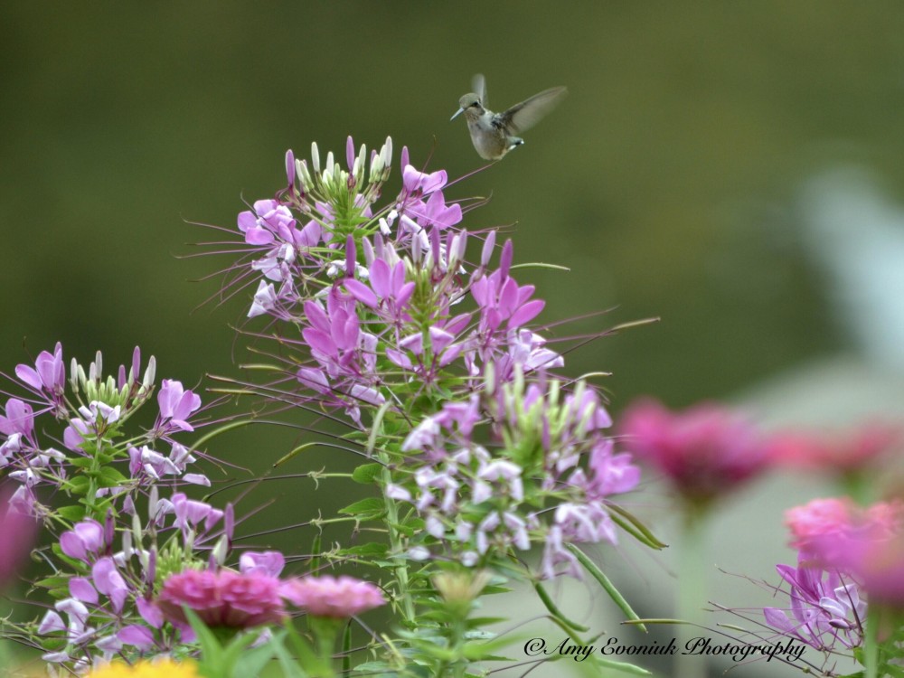
[(776, 464), (844, 474), (870, 466), (902, 442), (902, 428), (870, 421), (843, 433), (778, 433), (769, 445), (769, 455)]

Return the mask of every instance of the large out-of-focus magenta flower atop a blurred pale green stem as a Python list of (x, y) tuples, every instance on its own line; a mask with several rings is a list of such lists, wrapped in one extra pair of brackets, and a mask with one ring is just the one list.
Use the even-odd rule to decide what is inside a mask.
[(672, 480), (683, 498), (702, 506), (756, 476), (769, 464), (767, 444), (737, 412), (702, 403), (671, 412), (654, 400), (626, 410), (618, 429), (624, 446)]

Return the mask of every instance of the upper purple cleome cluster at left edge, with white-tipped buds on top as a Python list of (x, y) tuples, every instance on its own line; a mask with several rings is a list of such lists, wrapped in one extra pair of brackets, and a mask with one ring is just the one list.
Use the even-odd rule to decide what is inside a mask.
[[(210, 485), (207, 476), (186, 473), (195, 457), (173, 438), (193, 430), (189, 419), (201, 408), (201, 399), (179, 381), (163, 380), (153, 428), (117, 441), (127, 420), (151, 399), (155, 369), (151, 357), (142, 375), (136, 348), (129, 368), (120, 365), (115, 377), (103, 376), (98, 353), (87, 372), (73, 359), (67, 380), (61, 344), (53, 353), (42, 351), (34, 367), (18, 365), (12, 381), (28, 395), (6, 400), (0, 415), (0, 468), (19, 485), (11, 504), (21, 513), (45, 516), (47, 509), (38, 501), (42, 486), (112, 501), (165, 476), (173, 485)], [(46, 419), (62, 428), (52, 439), (62, 440), (63, 450), (39, 438), (39, 431), (52, 428)]]

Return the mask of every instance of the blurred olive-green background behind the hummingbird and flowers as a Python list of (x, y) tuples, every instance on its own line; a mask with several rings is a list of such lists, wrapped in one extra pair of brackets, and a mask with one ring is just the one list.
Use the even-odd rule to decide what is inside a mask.
[[(464, 121), (448, 118), (477, 71), (494, 109), (570, 89), (525, 146), (447, 197), (492, 194), (468, 228), (517, 222), (519, 261), (570, 268), (520, 277), (548, 300), (542, 320), (614, 309), (560, 335), (662, 318), (569, 356), (570, 374), (613, 372), (616, 412), (642, 393), (731, 398), (856, 353), (800, 192), (855, 165), (904, 199), (900, 4), (30, 2), (0, 14), (4, 372), (59, 340), (85, 363), (99, 348), (127, 361), (140, 344), (158, 379), (237, 375), (249, 356), (230, 325), (250, 293), (198, 308), (219, 280), (196, 280), (226, 262), (181, 258), (214, 235), (187, 222), (234, 225), (243, 200), (284, 184), (286, 149), (306, 156), (314, 140), (341, 152), (348, 134), (369, 147), (391, 135), (396, 158), (407, 145), (416, 165), (476, 170)], [(297, 440), (259, 430), (212, 451), (262, 469)], [(299, 521), (343, 497), (308, 500)]]

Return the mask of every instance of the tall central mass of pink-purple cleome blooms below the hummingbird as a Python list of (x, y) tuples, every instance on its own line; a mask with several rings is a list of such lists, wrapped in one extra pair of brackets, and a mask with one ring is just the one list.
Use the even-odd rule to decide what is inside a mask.
[(249, 315), (285, 328), (293, 352), (260, 392), (380, 422), (374, 479), (414, 528), (394, 557), (486, 567), (539, 544), (543, 576), (579, 575), (568, 544), (617, 541), (611, 501), (639, 470), (613, 451), (593, 386), (551, 376), (564, 360), (531, 325), (545, 302), (513, 277), (512, 241), (458, 228), (447, 174), (416, 169), (407, 149), (400, 193), (378, 206), (391, 141), (369, 173), (366, 157), (351, 138), (345, 167), (321, 165), (316, 146), (310, 165), (289, 152), (287, 189), (239, 215), (249, 255), (231, 282), (263, 277)]

